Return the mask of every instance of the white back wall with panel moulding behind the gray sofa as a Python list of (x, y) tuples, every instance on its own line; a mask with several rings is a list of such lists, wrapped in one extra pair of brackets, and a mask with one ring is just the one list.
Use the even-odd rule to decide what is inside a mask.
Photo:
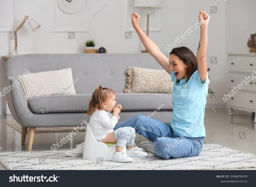
[[(142, 27), (145, 28), (146, 11), (134, 8), (133, 0), (87, 0), (88, 12), (79, 18), (75, 18), (74, 15), (70, 15), (72, 24), (77, 24), (78, 27), (74, 27), (74, 31), (88, 26), (89, 32), (75, 32), (75, 39), (67, 40), (67, 32), (52, 32), (52, 22), (56, 27), (67, 30), (65, 22), (63, 20), (53, 20), (54, 12), (58, 12), (53, 9), (53, 3), (57, 1), (43, 1), (43, 0), (13, 0), (13, 10), (8, 11), (9, 2), (0, 0), (0, 55), (10, 53), (14, 46), (14, 40), (10, 40), (10, 31), (19, 25), (23, 20), (24, 15), (29, 15), (30, 18), (34, 18), (42, 26), (36, 32), (32, 32), (27, 22), (18, 31), (18, 54), (27, 53), (82, 53), (85, 49), (84, 41), (87, 39), (96, 40), (96, 48), (104, 46), (108, 53), (138, 53), (144, 49), (139, 38), (135, 32), (132, 32), (131, 39), (125, 39), (126, 31), (134, 31), (131, 25), (130, 14), (134, 11), (141, 14)], [(98, 13), (95, 17), (91, 18), (91, 13), (95, 12), (99, 7), (107, 2), (108, 6)], [(157, 43), (160, 49), (168, 56), (166, 51), (166, 43), (171, 43), (177, 36), (183, 34), (191, 25), (194, 25), (198, 19), (198, 13), (200, 10), (206, 10), (210, 13), (211, 6), (218, 6), (217, 13), (210, 14), (211, 19), (208, 29), (208, 67), (211, 68), (209, 72), (210, 84), (209, 87), (213, 91), (216, 91), (216, 98), (210, 99), (208, 97), (208, 107), (223, 107), (222, 96), (225, 91), (225, 57), (226, 49), (231, 43), (232, 35), (237, 35), (239, 32), (234, 32), (229, 28), (238, 27), (240, 31), (242, 27), (249, 29), (252, 25), (252, 21), (244, 20), (252, 19), (248, 18), (249, 15), (254, 14), (253, 7), (255, 2), (249, 1), (229, 1), (223, 0), (163, 0), (163, 9), (151, 10), (150, 12), (150, 33), (149, 37)], [(254, 6), (252, 6), (254, 4)], [(238, 12), (233, 12), (233, 8), (238, 9), (239, 6), (243, 6)], [(250, 12), (248, 12), (248, 9)], [(228, 14), (226, 13), (229, 12)], [(242, 17), (238, 15), (243, 15)], [(233, 15), (233, 17), (232, 17)], [(227, 18), (226, 18), (227, 17)], [(78, 25), (81, 23), (81, 19), (85, 20), (85, 25)], [(10, 25), (13, 20), (13, 25)], [(226, 20), (226, 21), (225, 21)], [(240, 26), (237, 22), (242, 22)], [(9, 29), (10, 27), (10, 29)], [(230, 26), (231, 27), (231, 26)], [(232, 28), (231, 27), (231, 28)], [(255, 28), (255, 27), (254, 27)], [(228, 32), (226, 32), (228, 29)], [(6, 31), (4, 31), (6, 30)], [(245, 32), (246, 29), (241, 29), (241, 32)], [(255, 29), (254, 29), (255, 31)], [(248, 30), (245, 32), (247, 37), (248, 33), (252, 32)], [(225, 39), (225, 33), (227, 38)], [(252, 32), (253, 33), (253, 32)], [(188, 35), (178, 46), (187, 46), (194, 53), (198, 48), (200, 29), (196, 29), (190, 35)], [(240, 35), (240, 33), (239, 33)], [(244, 44), (245, 38), (241, 38), (241, 46)], [(241, 53), (239, 48), (228, 48), (228, 50), (237, 50)], [(233, 50), (233, 51), (234, 51)], [(245, 51), (245, 49), (242, 49)], [(14, 54), (13, 54), (14, 55)], [(210, 57), (217, 56), (217, 64), (210, 64)], [(0, 58), (0, 88), (4, 87), (4, 64), (2, 58)], [(5, 100), (0, 98), (1, 111), (5, 110)]]

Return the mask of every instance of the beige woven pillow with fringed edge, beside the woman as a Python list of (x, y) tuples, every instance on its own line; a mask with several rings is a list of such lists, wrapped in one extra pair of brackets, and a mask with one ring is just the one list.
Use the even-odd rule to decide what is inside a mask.
[(162, 69), (130, 67), (123, 94), (127, 93), (172, 93), (171, 75)]

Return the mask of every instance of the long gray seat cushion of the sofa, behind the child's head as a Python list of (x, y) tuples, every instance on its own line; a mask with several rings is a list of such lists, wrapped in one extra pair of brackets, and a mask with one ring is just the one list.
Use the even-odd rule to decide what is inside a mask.
[[(92, 94), (42, 96), (28, 99), (34, 113), (86, 112)], [(172, 94), (134, 93), (116, 94), (122, 111), (172, 110)]]

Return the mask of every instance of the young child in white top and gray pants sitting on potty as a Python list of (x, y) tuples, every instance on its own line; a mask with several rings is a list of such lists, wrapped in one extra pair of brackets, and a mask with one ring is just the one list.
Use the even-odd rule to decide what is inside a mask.
[[(147, 157), (147, 152), (134, 146), (136, 136), (134, 128), (120, 127), (113, 130), (120, 119), (118, 114), (122, 109), (122, 105), (115, 104), (115, 93), (113, 90), (99, 86), (93, 92), (87, 114), (91, 116), (90, 127), (95, 139), (103, 143), (116, 143), (116, 152), (114, 152), (111, 159), (113, 162), (132, 162), (133, 159), (130, 157)], [(113, 115), (110, 113), (111, 111), (113, 111)], [(75, 149), (81, 155), (83, 145)], [(123, 149), (126, 149), (127, 155), (123, 153)], [(70, 156), (70, 154), (66, 155)]]

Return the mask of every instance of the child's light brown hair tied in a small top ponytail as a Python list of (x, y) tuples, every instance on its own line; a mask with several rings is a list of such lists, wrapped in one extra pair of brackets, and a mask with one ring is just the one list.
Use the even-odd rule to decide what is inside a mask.
[(114, 95), (113, 90), (109, 88), (102, 88), (101, 85), (99, 85), (99, 88), (97, 88), (92, 94), (89, 108), (87, 110), (88, 116), (91, 116), (95, 110), (102, 109), (103, 102), (107, 101), (112, 94)]

